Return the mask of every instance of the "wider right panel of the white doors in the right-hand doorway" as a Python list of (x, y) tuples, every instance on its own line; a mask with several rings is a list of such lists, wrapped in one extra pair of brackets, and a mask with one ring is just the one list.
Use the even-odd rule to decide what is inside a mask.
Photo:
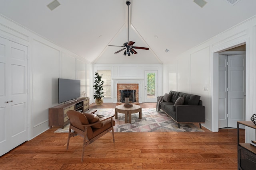
[(228, 56), (228, 127), (245, 120), (245, 55)]

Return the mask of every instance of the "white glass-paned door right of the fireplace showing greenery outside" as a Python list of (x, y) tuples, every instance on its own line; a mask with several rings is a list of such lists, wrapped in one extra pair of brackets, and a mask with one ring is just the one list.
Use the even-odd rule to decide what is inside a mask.
[(157, 70), (145, 70), (145, 102), (157, 102)]

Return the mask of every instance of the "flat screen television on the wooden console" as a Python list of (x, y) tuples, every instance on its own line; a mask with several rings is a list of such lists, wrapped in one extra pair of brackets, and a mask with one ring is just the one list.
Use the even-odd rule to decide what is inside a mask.
[(80, 80), (59, 78), (59, 103), (80, 98)]

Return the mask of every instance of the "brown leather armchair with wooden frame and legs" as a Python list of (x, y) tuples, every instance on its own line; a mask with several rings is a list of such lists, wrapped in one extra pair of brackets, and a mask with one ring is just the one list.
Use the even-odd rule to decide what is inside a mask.
[[(80, 113), (74, 110), (67, 111), (67, 115), (70, 119), (67, 150), (70, 137), (73, 137), (75, 135), (80, 135), (81, 137), (83, 137), (84, 144), (82, 149), (81, 162), (83, 162), (84, 160), (84, 148), (111, 130), (113, 135), (113, 142), (115, 142), (115, 121), (113, 120), (114, 115), (111, 117), (99, 118), (97, 115), (94, 115), (92, 113)], [(73, 133), (71, 133), (71, 129), (74, 130)]]

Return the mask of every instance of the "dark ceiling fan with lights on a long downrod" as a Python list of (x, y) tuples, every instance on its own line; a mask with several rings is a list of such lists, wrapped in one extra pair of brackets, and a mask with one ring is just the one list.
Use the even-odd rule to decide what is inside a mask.
[(117, 54), (121, 51), (124, 51), (124, 55), (128, 55), (130, 56), (131, 54), (137, 54), (137, 52), (134, 50), (134, 49), (142, 49), (142, 50), (148, 50), (149, 48), (147, 47), (136, 47), (136, 46), (133, 46), (135, 42), (133, 41), (129, 41), (129, 5), (131, 4), (130, 1), (126, 1), (126, 5), (128, 6), (128, 22), (127, 22), (127, 25), (128, 25), (128, 38), (127, 38), (127, 43), (124, 43), (123, 46), (119, 46), (119, 45), (108, 45), (108, 46), (112, 46), (112, 47), (124, 47), (123, 49), (120, 49), (118, 51), (116, 51), (116, 53), (114, 54)]

